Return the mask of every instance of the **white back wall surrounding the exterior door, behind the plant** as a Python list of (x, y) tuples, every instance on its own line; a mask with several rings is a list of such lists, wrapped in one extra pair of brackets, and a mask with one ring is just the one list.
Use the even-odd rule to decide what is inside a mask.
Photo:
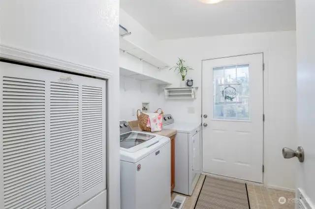
[[(264, 52), (264, 184), (279, 188), (295, 187), (294, 162), (282, 157), (283, 147), (296, 147), (296, 40), (295, 31), (268, 32), (166, 40), (161, 42), (161, 54), (170, 63), (177, 57), (187, 61), (194, 71), (188, 77), (199, 86), (194, 101), (168, 101), (167, 113), (177, 121), (200, 122), (201, 60), (225, 56)], [(180, 76), (164, 70), (178, 86)], [(194, 114), (187, 108), (193, 106)]]

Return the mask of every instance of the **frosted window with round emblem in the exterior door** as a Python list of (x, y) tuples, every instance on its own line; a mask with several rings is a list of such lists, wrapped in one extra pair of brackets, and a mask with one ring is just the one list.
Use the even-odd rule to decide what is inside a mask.
[(249, 120), (249, 65), (213, 69), (214, 119)]

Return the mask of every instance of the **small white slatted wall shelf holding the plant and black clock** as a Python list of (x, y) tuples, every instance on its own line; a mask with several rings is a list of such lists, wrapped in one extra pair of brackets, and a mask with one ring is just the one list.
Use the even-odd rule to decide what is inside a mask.
[(198, 87), (164, 88), (166, 99), (195, 99), (195, 90)]

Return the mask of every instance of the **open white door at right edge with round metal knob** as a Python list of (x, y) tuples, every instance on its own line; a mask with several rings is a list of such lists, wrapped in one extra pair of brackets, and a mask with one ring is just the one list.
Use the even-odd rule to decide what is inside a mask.
[[(296, 37), (297, 37), (297, 106), (298, 106), (298, 140), (297, 145), (302, 146), (305, 152), (304, 162), (296, 159), (298, 181), (297, 188), (303, 193), (306, 201), (298, 202), (306, 208), (315, 208), (315, 25), (314, 0), (296, 2)], [(312, 18), (313, 17), (313, 18)], [(291, 147), (296, 150), (296, 147)], [(299, 195), (299, 193), (298, 193)], [(299, 196), (298, 196), (299, 197)]]

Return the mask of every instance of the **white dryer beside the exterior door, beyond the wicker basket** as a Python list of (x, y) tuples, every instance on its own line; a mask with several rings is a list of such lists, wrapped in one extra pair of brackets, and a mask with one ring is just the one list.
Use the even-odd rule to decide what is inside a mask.
[(164, 129), (175, 129), (175, 192), (191, 195), (201, 174), (200, 123), (175, 122), (163, 117)]

